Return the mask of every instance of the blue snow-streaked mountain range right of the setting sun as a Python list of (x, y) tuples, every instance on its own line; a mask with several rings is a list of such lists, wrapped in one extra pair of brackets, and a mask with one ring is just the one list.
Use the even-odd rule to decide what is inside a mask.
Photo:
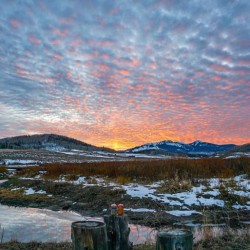
[(147, 143), (132, 149), (126, 150), (127, 153), (147, 153), (157, 151), (159, 154), (164, 151), (166, 154), (185, 154), (189, 156), (209, 156), (218, 152), (223, 152), (234, 148), (234, 144), (217, 145), (208, 142), (195, 141), (189, 144), (183, 142), (173, 142), (170, 140), (161, 141), (156, 143)]

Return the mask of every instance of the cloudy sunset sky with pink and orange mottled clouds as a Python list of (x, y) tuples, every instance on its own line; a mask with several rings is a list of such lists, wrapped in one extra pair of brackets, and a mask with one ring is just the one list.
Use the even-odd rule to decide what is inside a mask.
[(0, 138), (250, 142), (249, 0), (0, 4)]

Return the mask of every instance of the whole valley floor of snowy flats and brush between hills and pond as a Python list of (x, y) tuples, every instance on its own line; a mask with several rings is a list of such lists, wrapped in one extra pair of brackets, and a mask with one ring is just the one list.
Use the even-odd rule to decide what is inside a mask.
[[(211, 230), (219, 226), (220, 237), (227, 235), (226, 228), (249, 233), (248, 151), (187, 157), (144, 150), (58, 150), (59, 146), (50, 150), (0, 150), (2, 212), (7, 205), (10, 209), (46, 209), (100, 218), (110, 213), (112, 203), (122, 203), (131, 226), (149, 227), (149, 233), (160, 228), (205, 225)], [(6, 237), (11, 232), (7, 231)], [(219, 235), (209, 233), (210, 238)], [(154, 244), (154, 237), (150, 242), (147, 237), (133, 241)], [(207, 237), (200, 235), (196, 244), (203, 244), (200, 242)], [(151, 249), (150, 244), (145, 249)]]

